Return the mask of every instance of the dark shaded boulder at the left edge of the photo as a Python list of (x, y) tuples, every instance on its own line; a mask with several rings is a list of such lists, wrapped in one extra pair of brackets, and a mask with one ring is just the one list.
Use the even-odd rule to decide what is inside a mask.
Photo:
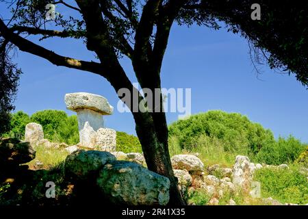
[(25, 164), (35, 157), (36, 151), (29, 142), (17, 138), (0, 139), (0, 169)]

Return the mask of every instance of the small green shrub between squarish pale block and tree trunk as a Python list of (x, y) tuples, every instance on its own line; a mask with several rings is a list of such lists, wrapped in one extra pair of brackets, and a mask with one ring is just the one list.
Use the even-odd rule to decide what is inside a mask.
[(139, 139), (122, 131), (116, 133), (116, 150), (124, 153), (142, 153)]

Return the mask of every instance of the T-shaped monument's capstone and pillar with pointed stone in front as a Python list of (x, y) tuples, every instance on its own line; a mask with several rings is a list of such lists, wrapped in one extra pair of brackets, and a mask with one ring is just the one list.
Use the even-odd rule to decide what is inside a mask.
[(96, 94), (78, 92), (65, 95), (66, 108), (77, 112), (81, 146), (94, 148), (96, 131), (104, 127), (103, 116), (113, 114), (107, 99)]

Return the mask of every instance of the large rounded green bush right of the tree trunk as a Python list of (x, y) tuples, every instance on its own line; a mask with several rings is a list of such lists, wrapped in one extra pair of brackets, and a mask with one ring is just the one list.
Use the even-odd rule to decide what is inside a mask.
[(209, 111), (179, 120), (169, 127), (170, 136), (177, 136), (181, 149), (191, 150), (202, 146), (200, 136), (219, 140), (224, 151), (257, 153), (262, 146), (274, 142), (270, 130), (252, 123), (241, 114)]

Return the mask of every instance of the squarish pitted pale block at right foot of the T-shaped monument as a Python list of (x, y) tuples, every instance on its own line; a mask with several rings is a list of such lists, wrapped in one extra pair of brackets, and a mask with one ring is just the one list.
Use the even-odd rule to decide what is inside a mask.
[(100, 151), (116, 151), (116, 131), (107, 128), (97, 130), (96, 146)]

